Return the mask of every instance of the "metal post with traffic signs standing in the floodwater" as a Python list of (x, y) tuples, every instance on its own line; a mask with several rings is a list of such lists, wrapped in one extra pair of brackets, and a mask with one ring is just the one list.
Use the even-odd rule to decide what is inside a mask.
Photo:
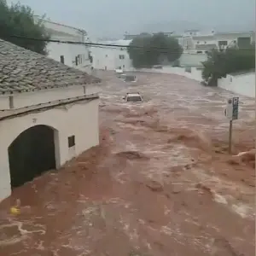
[(233, 130), (233, 120), (238, 119), (238, 105), (239, 97), (233, 97), (228, 100), (227, 107), (225, 109), (225, 116), (230, 120), (229, 129), (229, 154), (232, 152), (232, 130)]

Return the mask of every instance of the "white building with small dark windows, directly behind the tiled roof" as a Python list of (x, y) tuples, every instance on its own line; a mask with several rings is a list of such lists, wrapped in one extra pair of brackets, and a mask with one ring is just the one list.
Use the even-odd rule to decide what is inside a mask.
[[(51, 20), (42, 20), (39, 16), (34, 16), (36, 21), (42, 22), (50, 39), (59, 41), (72, 41), (89, 43), (87, 32), (73, 26), (67, 26)], [(78, 68), (84, 72), (90, 72), (90, 49), (85, 44), (58, 44), (49, 43), (47, 45), (49, 58), (61, 61), (69, 67)]]

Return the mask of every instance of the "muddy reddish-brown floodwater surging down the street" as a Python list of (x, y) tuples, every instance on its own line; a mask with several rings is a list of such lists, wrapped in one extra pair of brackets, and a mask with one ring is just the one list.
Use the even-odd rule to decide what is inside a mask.
[[(255, 159), (227, 154), (232, 94), (176, 75), (97, 75), (100, 146), (1, 203), (0, 255), (254, 255)], [(145, 102), (122, 102), (127, 91)], [(253, 148), (253, 100), (240, 102), (234, 154)]]

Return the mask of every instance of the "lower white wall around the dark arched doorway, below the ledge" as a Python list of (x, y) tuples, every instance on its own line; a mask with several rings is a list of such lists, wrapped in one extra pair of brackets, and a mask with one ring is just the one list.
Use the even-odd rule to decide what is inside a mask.
[[(96, 99), (2, 120), (0, 122), (0, 201), (11, 194), (8, 148), (22, 131), (34, 125), (53, 127), (56, 166), (62, 166), (67, 160), (99, 144), (98, 105), (99, 100)], [(69, 150), (67, 137), (73, 135), (76, 145), (73, 150)]]

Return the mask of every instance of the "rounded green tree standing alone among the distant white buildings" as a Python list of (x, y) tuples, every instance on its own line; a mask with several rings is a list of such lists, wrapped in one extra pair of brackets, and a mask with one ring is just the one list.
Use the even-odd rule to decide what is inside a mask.
[(128, 53), (133, 67), (141, 68), (177, 61), (183, 49), (176, 38), (169, 38), (162, 32), (153, 36), (142, 33), (131, 41)]

